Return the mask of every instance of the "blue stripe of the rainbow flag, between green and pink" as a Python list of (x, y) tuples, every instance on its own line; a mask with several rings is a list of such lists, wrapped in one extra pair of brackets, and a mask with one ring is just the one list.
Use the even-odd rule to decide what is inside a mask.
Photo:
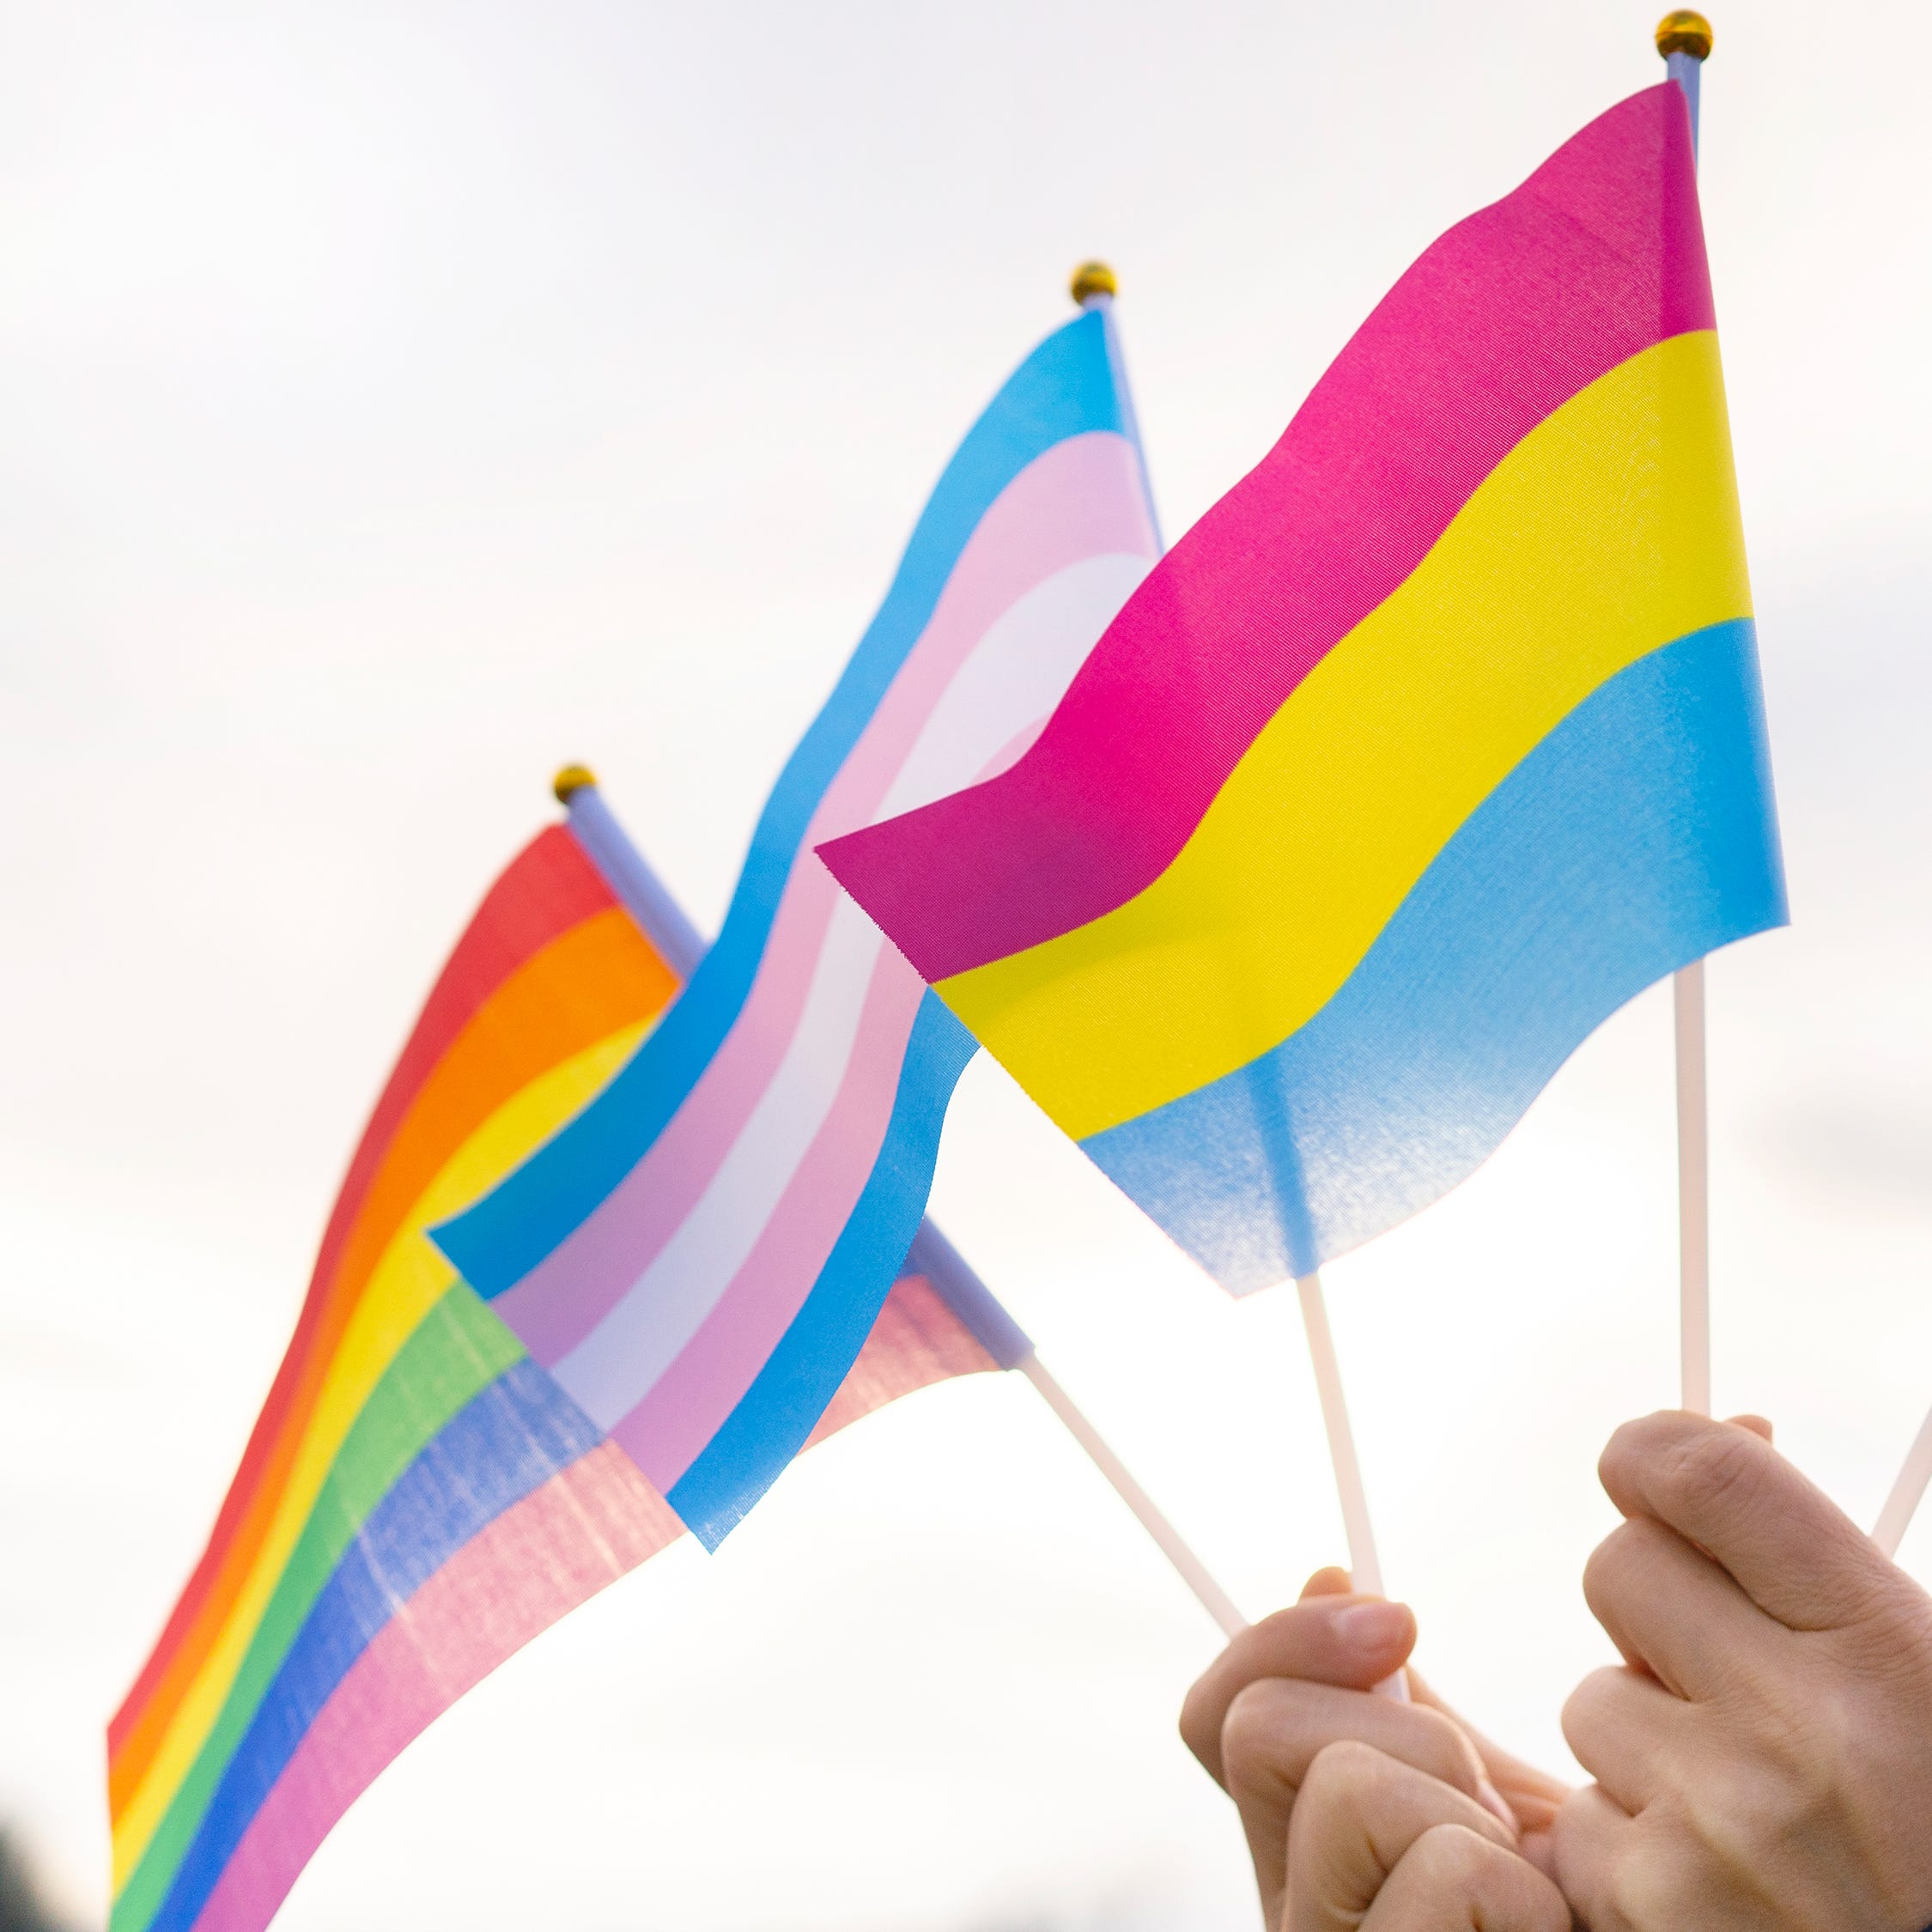
[(603, 1439), (597, 1424), (524, 1360), (423, 1447), (315, 1600), (209, 1801), (153, 1918), (155, 1932), (187, 1932), (195, 1922), (309, 1725), (396, 1611), (497, 1517)]

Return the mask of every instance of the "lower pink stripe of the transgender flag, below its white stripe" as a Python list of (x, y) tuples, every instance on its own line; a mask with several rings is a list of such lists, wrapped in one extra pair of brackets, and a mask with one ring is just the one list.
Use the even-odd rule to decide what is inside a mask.
[(804, 1306), (871, 1177), (925, 981), (879, 949), (838, 1095), (757, 1244), (676, 1360), (611, 1434), (668, 1490), (738, 1406)]

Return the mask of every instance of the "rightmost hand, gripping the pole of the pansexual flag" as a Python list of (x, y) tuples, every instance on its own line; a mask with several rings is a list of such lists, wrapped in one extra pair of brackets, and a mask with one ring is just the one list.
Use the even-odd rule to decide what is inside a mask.
[(1658, 1414), (1600, 1472), (1584, 1573), (1625, 1656), (1563, 1712), (1596, 1785), (1557, 1818), (1592, 1932), (1932, 1922), (1932, 1600), (1764, 1426)]

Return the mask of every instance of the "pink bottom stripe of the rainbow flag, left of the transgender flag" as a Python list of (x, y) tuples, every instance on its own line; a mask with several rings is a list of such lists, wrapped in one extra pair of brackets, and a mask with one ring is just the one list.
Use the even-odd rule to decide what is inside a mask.
[(355, 1660), (263, 1801), (195, 1932), (261, 1932), (315, 1847), (423, 1727), (684, 1532), (616, 1443), (506, 1509)]

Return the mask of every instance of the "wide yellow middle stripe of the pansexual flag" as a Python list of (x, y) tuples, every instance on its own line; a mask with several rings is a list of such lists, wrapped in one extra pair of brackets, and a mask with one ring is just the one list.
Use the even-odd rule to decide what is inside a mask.
[(1190, 1094), (1335, 995), (1590, 692), (1748, 614), (1718, 338), (1673, 336), (1503, 458), (1269, 719), (1153, 885), (939, 991), (1076, 1138)]

